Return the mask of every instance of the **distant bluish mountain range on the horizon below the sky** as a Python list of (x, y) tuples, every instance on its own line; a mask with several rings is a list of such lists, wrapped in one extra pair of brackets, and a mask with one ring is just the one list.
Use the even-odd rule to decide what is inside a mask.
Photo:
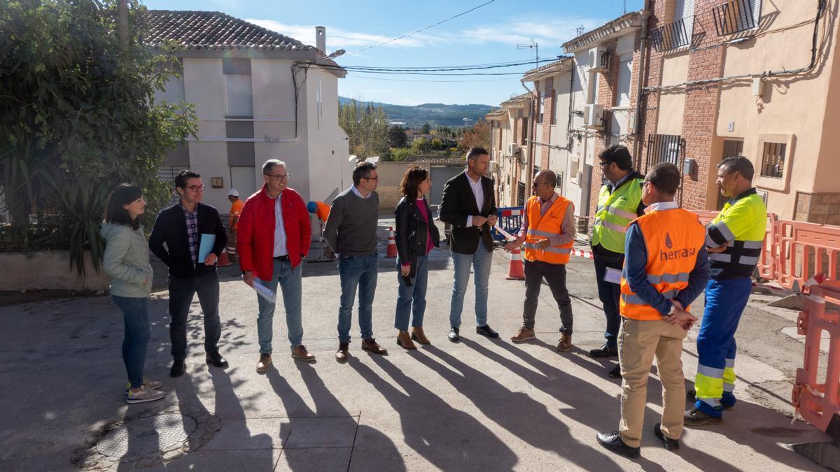
[[(352, 98), (339, 97), (339, 103), (344, 104), (352, 101)], [(434, 126), (470, 126), (479, 118), (484, 118), (487, 113), (497, 107), (490, 105), (445, 105), (444, 103), (423, 103), (415, 107), (406, 105), (392, 105), (381, 102), (360, 102), (358, 106), (366, 106), (371, 103), (375, 106), (382, 106), (388, 121), (406, 123), (408, 128), (419, 128), (423, 123)], [(465, 120), (466, 118), (466, 120)]]

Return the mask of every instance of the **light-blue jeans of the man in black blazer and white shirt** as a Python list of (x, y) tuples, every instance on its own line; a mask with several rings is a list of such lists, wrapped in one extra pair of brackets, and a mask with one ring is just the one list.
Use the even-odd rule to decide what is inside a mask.
[(470, 284), (470, 265), (475, 272), (475, 326), (487, 324), (487, 285), (493, 253), (479, 241), (475, 254), (452, 253), (455, 266), (455, 281), (452, 285), (452, 303), (449, 307), (449, 326), (461, 326), (461, 311), (464, 309), (464, 294)]

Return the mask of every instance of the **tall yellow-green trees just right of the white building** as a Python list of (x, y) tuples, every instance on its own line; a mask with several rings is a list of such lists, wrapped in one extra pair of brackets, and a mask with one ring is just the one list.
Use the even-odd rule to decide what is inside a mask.
[(360, 110), (355, 100), (339, 105), (339, 125), (349, 136), (351, 154), (362, 159), (388, 155), (388, 117), (381, 106), (368, 104)]

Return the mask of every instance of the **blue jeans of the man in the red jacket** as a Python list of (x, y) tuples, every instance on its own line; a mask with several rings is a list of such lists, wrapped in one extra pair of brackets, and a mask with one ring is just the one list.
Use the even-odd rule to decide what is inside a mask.
[[(275, 292), (277, 291), (277, 283), (280, 282), (283, 307), (286, 309), (286, 329), (289, 331), (291, 349), (300, 346), (303, 340), (303, 325), (301, 322), (302, 269), (302, 262), (292, 269), (291, 262), (288, 260), (274, 260), (270, 281), (263, 281), (259, 277), (254, 279), (255, 283)], [(260, 314), (257, 316), (257, 338), (260, 339), (260, 354), (271, 354), (276, 303), (270, 303), (258, 295), (257, 305), (260, 307)]]

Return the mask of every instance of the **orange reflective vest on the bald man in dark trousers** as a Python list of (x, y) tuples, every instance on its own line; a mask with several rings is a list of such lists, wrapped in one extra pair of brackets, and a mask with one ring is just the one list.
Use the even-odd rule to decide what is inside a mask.
[(549, 264), (567, 264), (571, 255), (574, 241), (560, 246), (549, 246), (540, 249), (539, 241), (554, 238), (563, 230), (563, 220), (566, 210), (572, 202), (564, 197), (557, 197), (545, 214), (541, 214), (539, 197), (530, 197), (525, 204), (525, 214), (528, 215), (528, 230), (525, 232), (525, 259), (542, 261)]

